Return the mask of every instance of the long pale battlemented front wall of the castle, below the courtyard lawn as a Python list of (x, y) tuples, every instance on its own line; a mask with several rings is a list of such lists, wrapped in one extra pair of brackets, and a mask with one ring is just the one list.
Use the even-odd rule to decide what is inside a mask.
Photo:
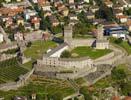
[(92, 66), (93, 61), (89, 58), (56, 58), (56, 57), (43, 57), (42, 60), (37, 61), (38, 66), (61, 66), (64, 68), (79, 68), (85, 66)]

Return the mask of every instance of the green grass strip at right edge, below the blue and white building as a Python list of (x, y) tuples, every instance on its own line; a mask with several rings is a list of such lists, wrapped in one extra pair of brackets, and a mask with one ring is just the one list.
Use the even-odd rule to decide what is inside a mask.
[(110, 42), (113, 43), (113, 44), (117, 44), (119, 45), (120, 47), (124, 48), (127, 53), (130, 55), (131, 54), (131, 46), (128, 44), (127, 41), (122, 41), (121, 43), (116, 43), (117, 39), (116, 38), (110, 38)]

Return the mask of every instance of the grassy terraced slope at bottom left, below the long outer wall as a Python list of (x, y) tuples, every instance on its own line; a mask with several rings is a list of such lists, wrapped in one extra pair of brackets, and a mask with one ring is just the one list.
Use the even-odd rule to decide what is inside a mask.
[(18, 90), (2, 92), (0, 96), (4, 96), (5, 100), (11, 100), (12, 97), (27, 96), (30, 100), (31, 93), (37, 94), (37, 100), (45, 100), (53, 98), (53, 100), (62, 100), (63, 97), (73, 94), (75, 91), (67, 81), (38, 78), (33, 79), (27, 86), (19, 88)]

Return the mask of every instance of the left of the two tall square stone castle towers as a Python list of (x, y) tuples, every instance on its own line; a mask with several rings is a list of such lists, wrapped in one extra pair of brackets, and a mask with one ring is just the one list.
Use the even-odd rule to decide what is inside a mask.
[(72, 26), (65, 26), (64, 27), (64, 42), (68, 43), (68, 45), (71, 45), (72, 42)]

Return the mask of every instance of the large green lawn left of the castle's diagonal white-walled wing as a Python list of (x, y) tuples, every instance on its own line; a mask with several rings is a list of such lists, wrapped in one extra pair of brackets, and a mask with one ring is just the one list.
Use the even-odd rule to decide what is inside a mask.
[(56, 46), (57, 44), (53, 41), (38, 40), (33, 42), (31, 47), (25, 50), (24, 54), (27, 57), (37, 59), (39, 57), (42, 57), (43, 53), (45, 53), (49, 48), (54, 48)]

